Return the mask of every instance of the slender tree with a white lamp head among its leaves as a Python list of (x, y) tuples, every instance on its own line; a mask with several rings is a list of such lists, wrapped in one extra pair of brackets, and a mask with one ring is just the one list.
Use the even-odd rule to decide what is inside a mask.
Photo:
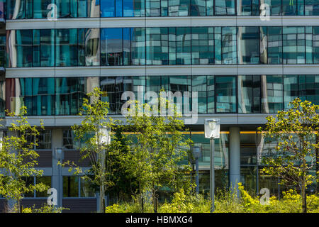
[(84, 171), (68, 160), (62, 165), (69, 165), (69, 171), (75, 170), (74, 174), (81, 174), (82, 179), (99, 187), (99, 212), (105, 213), (104, 196), (106, 190), (114, 185), (116, 162), (113, 162), (113, 157), (119, 153), (121, 143), (111, 140), (115, 123), (112, 118), (107, 117), (109, 105), (108, 102), (101, 100), (103, 92), (96, 87), (93, 92), (86, 95), (88, 99), (83, 99), (79, 112), (79, 116), (84, 116), (84, 120), (80, 125), (72, 126), (72, 130), (75, 135), (74, 140), (80, 144), (81, 160), (89, 158), (91, 168)]

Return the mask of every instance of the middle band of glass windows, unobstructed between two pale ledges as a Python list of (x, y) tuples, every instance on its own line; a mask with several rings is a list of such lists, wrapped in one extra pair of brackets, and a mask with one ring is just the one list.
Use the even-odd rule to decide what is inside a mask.
[(7, 31), (7, 67), (318, 64), (318, 27)]

